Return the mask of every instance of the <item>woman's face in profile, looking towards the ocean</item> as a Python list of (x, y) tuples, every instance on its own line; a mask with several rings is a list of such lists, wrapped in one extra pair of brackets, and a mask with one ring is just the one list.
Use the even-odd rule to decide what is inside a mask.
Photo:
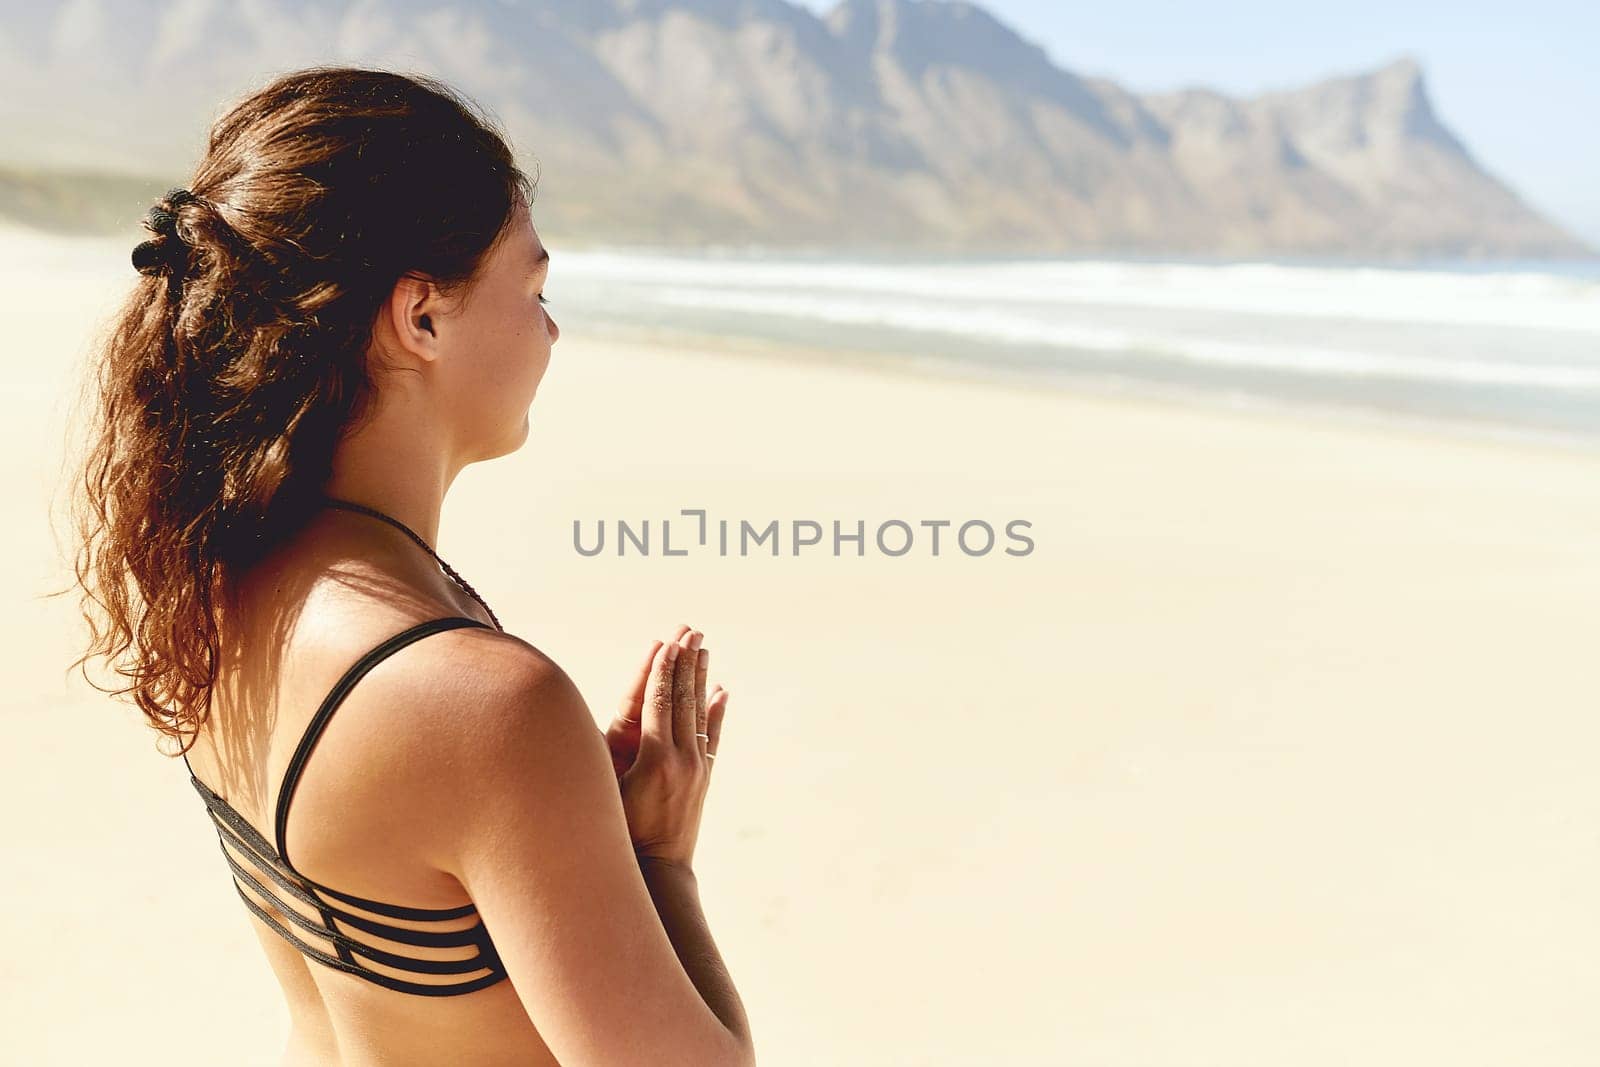
[[(459, 426), (480, 458), (515, 451), (528, 437), (528, 408), (562, 336), (544, 310), (550, 261), (526, 205), (512, 216), (504, 240), (490, 253), (475, 288), (448, 331), (464, 371), (451, 392), (470, 408)], [(443, 338), (442, 338), (443, 339)]]

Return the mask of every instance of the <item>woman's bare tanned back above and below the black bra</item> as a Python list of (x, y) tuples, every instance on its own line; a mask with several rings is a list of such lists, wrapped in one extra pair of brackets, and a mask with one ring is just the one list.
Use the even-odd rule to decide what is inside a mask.
[[(466, 616), (490, 625), (482, 606), (443, 576), (432, 582), (398, 561), (398, 569), (408, 566), (397, 582), (381, 563), (330, 566), (301, 547), (269, 557), (240, 582), (211, 718), (190, 763), (266, 840), (274, 838), (296, 744), (352, 664), (429, 619)], [(518, 638), (480, 627), (430, 633), (350, 688), (293, 790), (285, 832), (298, 870), (354, 897), (408, 909), (470, 905), (459, 881), (419, 854), (386, 769), (402, 758), (390, 744), (400, 726), (394, 717), (418, 688), (470, 683), (485, 643), (507, 640)], [(269, 920), (290, 918), (270, 899), (261, 902)], [(451, 997), (395, 992), (307, 958), (259, 917), (250, 921), (290, 1006), (288, 1064), (557, 1062), (510, 982)]]

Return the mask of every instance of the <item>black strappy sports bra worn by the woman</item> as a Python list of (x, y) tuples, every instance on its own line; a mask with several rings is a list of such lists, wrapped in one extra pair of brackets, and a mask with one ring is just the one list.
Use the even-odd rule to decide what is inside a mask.
[(411, 641), (464, 625), (493, 629), (467, 616), (419, 622), (368, 651), (339, 678), (312, 715), (283, 774), (275, 819), (277, 846), (189, 768), (189, 781), (216, 824), (222, 856), (234, 872), (234, 886), (256, 918), (325, 966), (422, 997), (470, 993), (506, 977), (477, 907), (402, 907), (339, 893), (294, 870), (283, 837), (306, 760), (350, 688), (379, 661)]

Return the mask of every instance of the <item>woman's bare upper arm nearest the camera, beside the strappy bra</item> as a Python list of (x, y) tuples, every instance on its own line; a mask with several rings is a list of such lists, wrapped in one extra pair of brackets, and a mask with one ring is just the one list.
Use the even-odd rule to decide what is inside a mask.
[(578, 686), (520, 640), (477, 645), (472, 685), (435, 697), (453, 739), (438, 864), (544, 1041), (563, 1064), (741, 1062), (656, 913)]

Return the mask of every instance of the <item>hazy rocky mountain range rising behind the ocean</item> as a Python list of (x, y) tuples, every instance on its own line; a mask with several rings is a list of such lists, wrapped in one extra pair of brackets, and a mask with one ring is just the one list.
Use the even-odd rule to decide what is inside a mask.
[(0, 165), (158, 192), (229, 96), (310, 62), (470, 93), (539, 171), (552, 238), (1589, 254), (1472, 158), (1410, 58), (1251, 99), (1139, 96), (942, 0), (821, 18), (784, 0), (19, 5), (0, 26)]

